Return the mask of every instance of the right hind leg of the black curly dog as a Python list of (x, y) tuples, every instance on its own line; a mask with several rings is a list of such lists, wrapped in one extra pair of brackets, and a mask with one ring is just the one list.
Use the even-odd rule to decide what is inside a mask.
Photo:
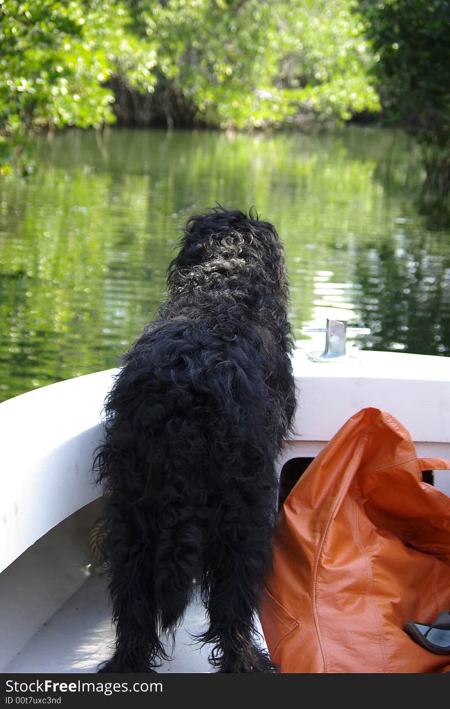
[(274, 672), (276, 666), (256, 642), (254, 627), (264, 578), (271, 564), (274, 497), (255, 481), (249, 496), (223, 490), (211, 511), (210, 545), (203, 574), (208, 630), (214, 643), (210, 664), (219, 672)]

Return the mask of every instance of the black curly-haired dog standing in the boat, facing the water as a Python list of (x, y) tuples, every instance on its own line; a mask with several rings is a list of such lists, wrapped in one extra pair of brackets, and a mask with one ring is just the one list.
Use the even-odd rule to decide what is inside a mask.
[(101, 672), (167, 659), (201, 584), (220, 672), (276, 671), (254, 642), (271, 567), (275, 460), (295, 408), (288, 279), (273, 225), (213, 208), (187, 222), (168, 296), (106, 401), (96, 477), (106, 491), (116, 651)]

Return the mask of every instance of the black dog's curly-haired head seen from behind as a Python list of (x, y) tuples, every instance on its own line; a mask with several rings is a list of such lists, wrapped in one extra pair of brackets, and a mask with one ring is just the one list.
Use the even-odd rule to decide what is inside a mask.
[(241, 211), (214, 207), (189, 218), (179, 242), (179, 253), (167, 269), (169, 290), (196, 280), (201, 270), (211, 284), (225, 284), (240, 276), (260, 279), (274, 295), (288, 301), (284, 249), (276, 228)]

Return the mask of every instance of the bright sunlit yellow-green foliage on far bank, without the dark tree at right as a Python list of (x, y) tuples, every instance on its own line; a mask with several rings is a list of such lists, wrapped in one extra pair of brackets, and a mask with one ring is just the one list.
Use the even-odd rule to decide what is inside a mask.
[(113, 121), (118, 82), (223, 128), (376, 110), (363, 29), (352, 0), (0, 0), (0, 156)]

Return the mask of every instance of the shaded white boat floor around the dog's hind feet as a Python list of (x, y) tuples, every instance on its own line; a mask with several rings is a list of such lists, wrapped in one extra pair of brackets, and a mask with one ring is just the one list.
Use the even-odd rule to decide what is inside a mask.
[[(94, 673), (113, 654), (107, 579), (89, 549), (89, 532), (101, 500), (78, 510), (47, 532), (0, 574), (2, 618), (1, 674)], [(266, 649), (261, 637), (255, 640)], [(215, 672), (211, 646), (194, 640), (206, 630), (206, 611), (194, 586), (175, 646), (166, 643), (170, 661), (161, 673)]]

